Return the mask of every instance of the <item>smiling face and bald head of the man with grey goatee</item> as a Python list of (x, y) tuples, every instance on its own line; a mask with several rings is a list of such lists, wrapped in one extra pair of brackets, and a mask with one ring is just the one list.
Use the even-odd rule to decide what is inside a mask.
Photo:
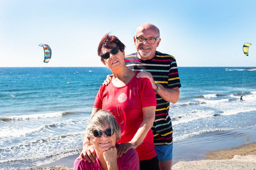
[(136, 37), (138, 38), (157, 38), (159, 37), (159, 32), (157, 28), (152, 24), (143, 24), (138, 27), (134, 36), (134, 44), (138, 52), (138, 57), (141, 60), (150, 60), (156, 54), (156, 48), (159, 46), (161, 39), (156, 39), (156, 43), (153, 45), (148, 44), (147, 41), (144, 43), (138, 43)]

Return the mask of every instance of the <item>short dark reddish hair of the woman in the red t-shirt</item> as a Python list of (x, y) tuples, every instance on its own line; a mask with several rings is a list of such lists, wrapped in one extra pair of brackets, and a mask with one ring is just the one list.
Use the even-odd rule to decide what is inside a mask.
[(121, 52), (124, 52), (125, 45), (116, 37), (116, 36), (109, 36), (109, 34), (105, 34), (103, 38), (100, 40), (99, 46), (98, 46), (98, 55), (102, 55), (101, 48), (108, 48), (112, 49), (113, 44), (119, 47), (119, 50)]

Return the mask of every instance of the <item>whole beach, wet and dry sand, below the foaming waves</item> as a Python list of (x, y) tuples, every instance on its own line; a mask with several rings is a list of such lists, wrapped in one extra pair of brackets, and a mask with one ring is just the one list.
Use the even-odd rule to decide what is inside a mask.
[[(78, 154), (29, 170), (72, 169), (76, 157)], [(256, 169), (256, 126), (175, 141), (172, 169)]]

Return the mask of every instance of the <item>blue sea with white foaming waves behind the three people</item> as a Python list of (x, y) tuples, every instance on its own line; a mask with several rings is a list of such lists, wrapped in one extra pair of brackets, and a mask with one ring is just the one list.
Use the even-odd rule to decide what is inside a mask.
[[(0, 169), (80, 153), (108, 74), (107, 67), (0, 67)], [(180, 99), (169, 111), (174, 143), (256, 125), (256, 67), (179, 67), (179, 76)]]

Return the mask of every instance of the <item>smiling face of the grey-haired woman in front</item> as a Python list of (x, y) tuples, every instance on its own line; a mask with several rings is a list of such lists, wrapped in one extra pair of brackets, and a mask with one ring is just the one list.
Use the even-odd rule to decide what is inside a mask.
[(109, 128), (109, 125), (101, 127), (99, 130), (101, 130), (103, 133), (102, 136), (100, 136), (99, 138), (94, 137), (93, 135), (91, 137), (88, 137), (90, 143), (92, 143), (92, 145), (94, 146), (97, 155), (102, 155), (105, 150), (108, 150), (110, 147), (116, 145), (116, 132), (114, 132), (112, 136), (107, 136), (104, 133), (104, 131)]

